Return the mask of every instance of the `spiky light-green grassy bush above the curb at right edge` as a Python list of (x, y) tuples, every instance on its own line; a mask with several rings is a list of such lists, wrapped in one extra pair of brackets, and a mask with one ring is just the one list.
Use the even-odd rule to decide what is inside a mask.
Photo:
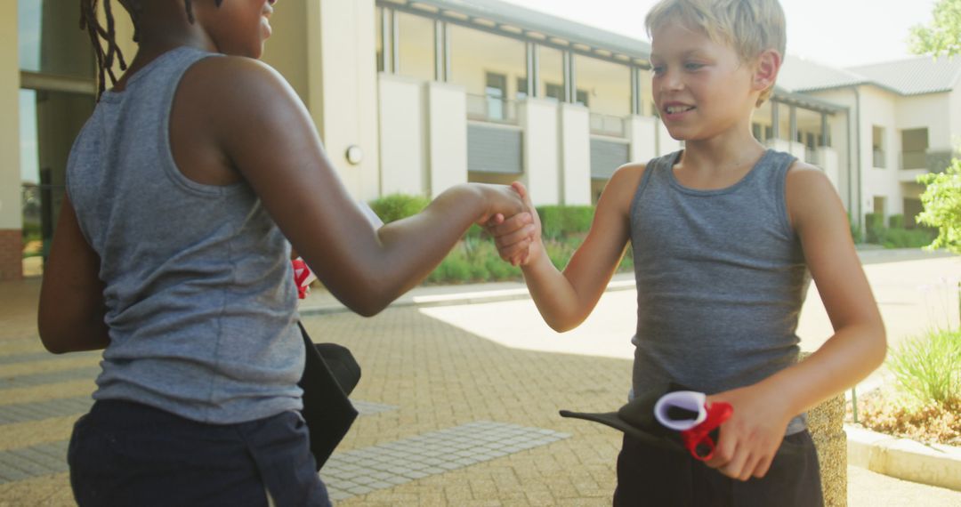
[(899, 391), (915, 407), (961, 399), (961, 331), (928, 331), (902, 342), (887, 359)]

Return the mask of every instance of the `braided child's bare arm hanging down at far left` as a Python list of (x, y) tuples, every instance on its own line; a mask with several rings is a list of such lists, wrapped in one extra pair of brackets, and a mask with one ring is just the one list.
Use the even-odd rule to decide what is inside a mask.
[(98, 350), (110, 344), (99, 275), (100, 257), (86, 243), (70, 198), (64, 197), (37, 309), (40, 341), (47, 350)]

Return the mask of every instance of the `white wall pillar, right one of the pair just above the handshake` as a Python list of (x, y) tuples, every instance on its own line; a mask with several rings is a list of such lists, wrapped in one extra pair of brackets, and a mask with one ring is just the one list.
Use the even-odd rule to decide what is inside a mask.
[(562, 205), (591, 204), (590, 111), (560, 104), (560, 171)]

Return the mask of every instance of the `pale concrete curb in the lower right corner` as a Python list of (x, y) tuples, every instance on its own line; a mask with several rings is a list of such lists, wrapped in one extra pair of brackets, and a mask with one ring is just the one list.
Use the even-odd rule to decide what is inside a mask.
[(961, 447), (925, 445), (845, 424), (848, 464), (961, 492)]

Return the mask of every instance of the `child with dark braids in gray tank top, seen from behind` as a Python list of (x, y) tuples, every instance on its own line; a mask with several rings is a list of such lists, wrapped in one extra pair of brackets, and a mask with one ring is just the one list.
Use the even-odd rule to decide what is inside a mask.
[(278, 506), (328, 505), (296, 414), (290, 246), (369, 316), (471, 224), (527, 208), (508, 186), (463, 183), (377, 228), (308, 109), (258, 60), (275, 0), (117, 1), (137, 42), (119, 77), (116, 2), (103, 0), (102, 24), (80, 0), (102, 96), (70, 152), (37, 312), (47, 350), (106, 348), (70, 441), (74, 495), (266, 506), (266, 490)]

